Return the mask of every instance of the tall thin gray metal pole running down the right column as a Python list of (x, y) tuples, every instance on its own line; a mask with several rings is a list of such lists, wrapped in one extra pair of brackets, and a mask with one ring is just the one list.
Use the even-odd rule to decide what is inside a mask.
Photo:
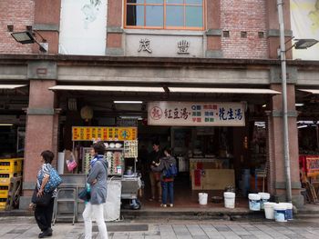
[(286, 176), (286, 197), (292, 203), (292, 182), (290, 175), (290, 156), (288, 138), (288, 114), (287, 114), (287, 78), (286, 78), (286, 55), (284, 45), (284, 25), (283, 25), (283, 0), (277, 0), (279, 32), (280, 32), (280, 60), (282, 66), (282, 88), (283, 88), (283, 156)]

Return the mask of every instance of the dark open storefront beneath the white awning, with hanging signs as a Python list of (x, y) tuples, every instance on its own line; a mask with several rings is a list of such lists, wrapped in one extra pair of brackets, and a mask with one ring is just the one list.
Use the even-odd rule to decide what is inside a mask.
[[(175, 197), (185, 206), (185, 198), (201, 191), (210, 192), (211, 196), (220, 195), (227, 186), (238, 188), (238, 196), (245, 197), (251, 185), (248, 182), (243, 186), (243, 169), (252, 169), (254, 179), (254, 169), (265, 167), (267, 116), (262, 105), (277, 95), (276, 91), (203, 89), (196, 85), (168, 87), (167, 92), (159, 86), (145, 85), (56, 85), (50, 90), (57, 95), (59, 107), (66, 107), (61, 109), (65, 115), (59, 116), (63, 134), (60, 134), (58, 151), (72, 151), (77, 160), (77, 168), (71, 171), (62, 161), (64, 174), (87, 173), (87, 150), (93, 139), (100, 138), (108, 144), (107, 158), (108, 154), (114, 158), (114, 162), (109, 163), (109, 174), (126, 175), (135, 165), (120, 150), (123, 147), (125, 151), (127, 142), (137, 140), (136, 169), (146, 184), (143, 198), (148, 198), (146, 157), (152, 150), (152, 142), (159, 140), (161, 148), (171, 147), (177, 158), (179, 175)], [(163, 96), (165, 100), (160, 101)], [(236, 100), (231, 101), (233, 98)], [(129, 138), (121, 138), (123, 130)], [(253, 192), (262, 191), (261, 185), (254, 187), (254, 180), (252, 182)], [(264, 184), (265, 190), (267, 182)], [(242, 187), (246, 188), (243, 195), (239, 190)], [(197, 204), (197, 199), (192, 201)]]

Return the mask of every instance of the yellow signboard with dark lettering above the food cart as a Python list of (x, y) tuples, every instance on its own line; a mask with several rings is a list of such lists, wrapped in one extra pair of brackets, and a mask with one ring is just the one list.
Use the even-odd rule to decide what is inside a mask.
[(136, 140), (138, 137), (137, 127), (72, 127), (73, 141), (125, 141)]

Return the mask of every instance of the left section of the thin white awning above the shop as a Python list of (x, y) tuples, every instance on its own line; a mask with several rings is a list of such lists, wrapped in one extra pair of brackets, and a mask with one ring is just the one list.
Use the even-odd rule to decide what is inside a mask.
[(108, 92), (157, 92), (164, 93), (162, 87), (146, 86), (101, 86), (101, 85), (55, 85), (52, 91), (108, 91)]

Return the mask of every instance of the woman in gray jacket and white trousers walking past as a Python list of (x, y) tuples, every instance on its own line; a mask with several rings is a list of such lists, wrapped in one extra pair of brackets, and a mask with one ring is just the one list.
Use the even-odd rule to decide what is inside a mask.
[(94, 157), (90, 162), (87, 184), (91, 198), (83, 212), (85, 239), (92, 238), (92, 216), (96, 218), (100, 238), (108, 239), (107, 226), (104, 222), (104, 204), (107, 201), (108, 164), (104, 159), (105, 144), (101, 141), (93, 144)]

